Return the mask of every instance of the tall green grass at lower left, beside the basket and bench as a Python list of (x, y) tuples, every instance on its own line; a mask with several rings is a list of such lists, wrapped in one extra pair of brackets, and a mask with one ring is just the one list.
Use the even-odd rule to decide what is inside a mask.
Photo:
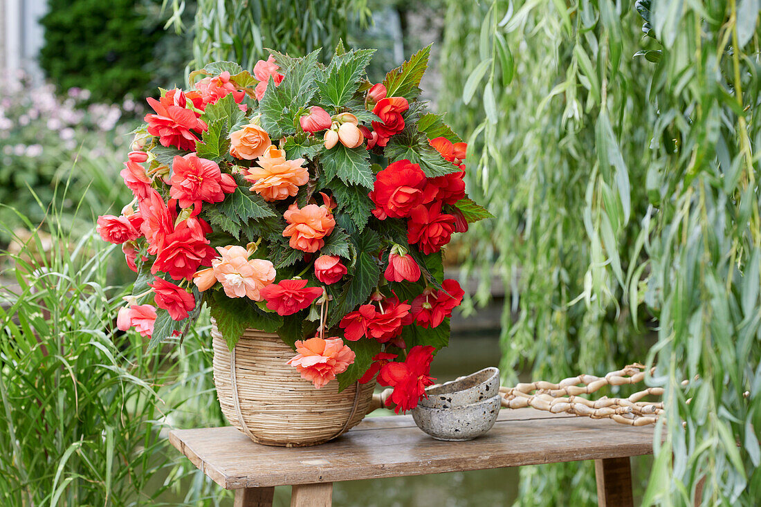
[(0, 505), (158, 505), (180, 483), (181, 502), (215, 503), (164, 431), (219, 423), (203, 336), (145, 352), (116, 330), (126, 292), (107, 272), (118, 248), (46, 223), (49, 238), (17, 237), (0, 257)]

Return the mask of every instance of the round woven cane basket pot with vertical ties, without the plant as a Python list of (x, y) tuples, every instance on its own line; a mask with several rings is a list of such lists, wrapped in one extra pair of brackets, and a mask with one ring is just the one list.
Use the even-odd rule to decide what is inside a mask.
[(295, 356), (272, 333), (248, 329), (233, 352), (216, 325), (214, 383), (222, 413), (254, 442), (301, 447), (342, 435), (368, 413), (375, 382), (354, 384), (338, 392), (338, 382), (315, 389), (296, 368)]

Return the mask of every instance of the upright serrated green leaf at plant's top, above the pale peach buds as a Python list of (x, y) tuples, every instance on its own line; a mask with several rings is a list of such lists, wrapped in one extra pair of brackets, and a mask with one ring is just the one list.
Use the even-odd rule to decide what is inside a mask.
[(333, 57), (323, 79), (317, 81), (320, 104), (342, 107), (359, 88), (358, 80), (365, 72), (375, 49), (352, 50)]

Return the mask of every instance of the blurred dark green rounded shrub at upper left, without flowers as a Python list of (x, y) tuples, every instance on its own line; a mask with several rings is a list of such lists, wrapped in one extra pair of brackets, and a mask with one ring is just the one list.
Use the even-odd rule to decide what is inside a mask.
[[(163, 3), (49, 0), (40, 19), (45, 27), (40, 65), (59, 91), (86, 88), (95, 102), (142, 98), (157, 85), (181, 83), (190, 43), (164, 32)], [(185, 15), (192, 16), (193, 9)]]

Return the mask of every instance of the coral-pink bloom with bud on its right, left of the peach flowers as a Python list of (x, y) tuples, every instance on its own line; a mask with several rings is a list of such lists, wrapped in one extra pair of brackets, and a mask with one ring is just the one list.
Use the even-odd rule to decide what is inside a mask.
[(233, 193), (237, 188), (234, 177), (221, 172), (215, 161), (199, 158), (195, 153), (174, 157), (170, 181), (169, 196), (177, 199), (180, 208), (222, 202), (225, 193)]

